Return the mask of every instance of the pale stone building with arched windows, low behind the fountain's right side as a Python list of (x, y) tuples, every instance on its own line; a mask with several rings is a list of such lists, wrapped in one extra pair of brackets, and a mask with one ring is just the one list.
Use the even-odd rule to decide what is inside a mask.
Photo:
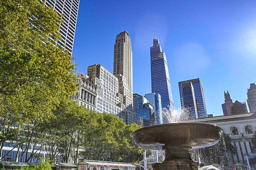
[(231, 144), (236, 146), (237, 152), (235, 154), (230, 153), (229, 150), (227, 152), (227, 159), (224, 159), (223, 162), (226, 167), (234, 166), (238, 168), (237, 164), (240, 163), (244, 164), (242, 168), (246, 168), (247, 161), (244, 154), (247, 154), (249, 155), (250, 166), (256, 168), (256, 153), (253, 153), (251, 144), (251, 139), (256, 130), (256, 112), (207, 117), (196, 121), (220, 126), (223, 132), (230, 137)]

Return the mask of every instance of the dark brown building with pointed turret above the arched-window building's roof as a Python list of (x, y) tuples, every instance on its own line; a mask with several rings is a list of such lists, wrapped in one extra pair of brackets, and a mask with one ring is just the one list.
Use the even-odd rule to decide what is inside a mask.
[(240, 114), (240, 113), (248, 112), (245, 102), (239, 102), (236, 100), (233, 103), (228, 91), (227, 93), (224, 91), (224, 97), (225, 97), (225, 103), (221, 105), (223, 115)]

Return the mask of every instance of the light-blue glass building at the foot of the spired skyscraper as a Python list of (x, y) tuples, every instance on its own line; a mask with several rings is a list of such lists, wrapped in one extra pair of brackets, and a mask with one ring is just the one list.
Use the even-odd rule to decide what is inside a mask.
[[(162, 104), (161, 96), (158, 93), (148, 93), (144, 97), (154, 106), (155, 112), (155, 125), (162, 124)], [(134, 106), (134, 104), (133, 104)]]

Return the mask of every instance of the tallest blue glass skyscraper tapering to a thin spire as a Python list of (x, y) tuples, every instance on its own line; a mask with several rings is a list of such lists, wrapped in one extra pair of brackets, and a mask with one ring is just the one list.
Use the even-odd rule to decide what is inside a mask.
[[(151, 91), (161, 95), (162, 108), (174, 109), (172, 88), (170, 87), (169, 71), (165, 53), (158, 39), (153, 39), (150, 47)], [(165, 121), (165, 120), (163, 120)]]

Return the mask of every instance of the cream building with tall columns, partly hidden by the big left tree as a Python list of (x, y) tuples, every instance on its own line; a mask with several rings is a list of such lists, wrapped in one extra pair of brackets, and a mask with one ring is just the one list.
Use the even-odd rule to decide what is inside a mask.
[(90, 110), (96, 110), (97, 107), (97, 90), (98, 87), (89, 81), (89, 76), (82, 73), (75, 74), (77, 80), (75, 85), (78, 85), (78, 90), (70, 98), (79, 106), (84, 105)]

